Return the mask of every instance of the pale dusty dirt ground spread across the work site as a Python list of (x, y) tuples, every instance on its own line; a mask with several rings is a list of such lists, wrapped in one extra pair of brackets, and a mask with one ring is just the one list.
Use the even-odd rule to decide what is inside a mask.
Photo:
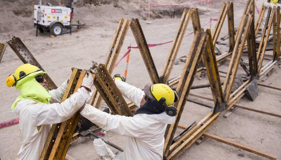
[[(8, 3), (4, 0), (5, 3)], [(224, 0), (213, 2), (210, 5), (209, 12), (205, 12), (206, 5), (196, 5), (190, 7), (198, 7), (203, 13), (200, 15), (201, 25), (204, 29), (210, 27), (206, 24), (210, 18), (218, 18), (220, 8)], [(234, 1), (234, 25), (238, 26), (241, 13), (244, 10), (246, 1)], [(262, 0), (256, 1), (260, 7)], [(4, 4), (4, 3), (2, 3)], [(0, 6), (3, 8), (3, 5)], [(0, 9), (1, 9), (0, 8)], [(141, 8), (136, 2), (136, 8)], [(2, 14), (2, 13), (1, 13)], [(3, 13), (6, 15), (7, 13)], [(64, 34), (55, 38), (50, 38), (47, 33), (35, 36), (35, 28), (32, 28), (32, 20), (29, 20), (29, 27), (20, 28), (24, 23), (27, 23), (31, 17), (22, 17), (24, 23), (17, 24), (18, 16), (13, 16), (14, 22), (10, 26), (5, 25), (3, 16), (0, 19), (0, 43), (10, 40), (13, 35), (21, 38), (24, 44), (30, 49), (31, 53), (37, 61), (48, 72), (48, 75), (57, 84), (62, 84), (71, 74), (71, 67), (89, 68), (91, 61), (103, 63), (106, 59), (111, 38), (117, 27), (120, 17), (132, 18), (141, 17), (139, 13), (127, 11), (124, 8), (113, 7), (113, 4), (103, 4), (101, 6), (84, 5), (78, 8), (80, 19), (93, 27), (82, 28), (78, 32), (73, 32), (72, 35)], [(256, 13), (256, 18), (257, 18)], [(146, 20), (141, 19), (141, 27), (146, 37), (147, 43), (162, 43), (170, 41), (174, 38), (178, 28), (180, 17), (171, 18), (163, 16), (159, 19), (152, 19), (151, 24), (146, 24)], [(15, 23), (15, 26), (13, 24)], [(211, 29), (213, 30), (216, 22), (212, 22)], [(227, 33), (227, 23), (224, 24), (221, 36)], [(191, 23), (187, 27), (186, 34), (192, 32)], [(189, 48), (193, 40), (193, 35), (189, 35), (183, 39), (178, 56), (188, 54)], [(128, 46), (137, 46), (131, 31), (128, 31), (123, 44), (119, 58), (125, 53)], [(150, 48), (152, 57), (156, 64), (157, 72), (161, 74), (163, 65), (166, 61), (167, 54), (170, 50), (171, 43), (163, 46)], [(222, 49), (224, 49), (222, 47)], [(267, 54), (271, 54), (268, 52)], [(7, 47), (0, 63), (0, 122), (16, 118), (16, 115), (10, 110), (10, 107), (19, 93), (15, 88), (8, 88), (5, 85), (6, 77), (15, 71), (22, 64), (11, 48)], [(113, 74), (124, 74), (125, 60), (122, 61), (115, 69)], [(276, 64), (276, 71), (265, 81), (267, 85), (281, 87), (281, 68), (280, 64)], [(181, 74), (184, 63), (174, 65), (171, 78)], [(227, 71), (228, 63), (219, 66), (220, 71)], [(243, 73), (240, 68), (239, 73)], [(222, 74), (223, 75), (223, 74)], [(223, 81), (223, 78), (221, 78)], [(147, 70), (142, 61), (139, 50), (133, 49), (130, 54), (130, 62), (128, 68), (128, 83), (142, 88), (146, 83), (150, 82)], [(195, 79), (194, 85), (207, 83), (207, 77), (199, 80)], [(247, 98), (239, 100), (238, 104), (281, 114), (281, 94), (280, 91), (259, 86), (259, 96), (255, 101), (250, 101)], [(202, 96), (211, 97), (210, 88), (192, 90), (190, 93), (200, 94)], [(205, 104), (214, 105), (210, 101), (204, 101), (192, 96), (191, 99), (203, 102)], [(201, 120), (210, 109), (200, 105), (187, 102), (181, 125), (189, 126), (194, 121)], [(254, 147), (258, 150), (276, 155), (281, 160), (281, 119), (269, 115), (264, 115), (256, 112), (250, 112), (242, 109), (237, 109), (228, 118), (219, 120), (208, 129), (207, 132), (224, 137), (226, 139)], [(178, 129), (178, 132), (181, 129)], [(110, 142), (124, 148), (125, 137), (118, 136), (112, 132), (108, 132), (104, 137)], [(20, 133), (17, 125), (0, 128), (0, 158), (1, 160), (14, 160), (20, 147)], [(112, 149), (117, 152), (116, 149)], [(93, 137), (84, 138), (83, 141), (75, 143), (69, 147), (68, 154), (76, 160), (95, 160), (97, 156), (94, 151)], [(265, 158), (251, 154), (250, 152), (235, 148), (230, 145), (221, 144), (214, 140), (207, 139), (202, 144), (193, 144), (182, 155), (179, 160), (263, 160)]]

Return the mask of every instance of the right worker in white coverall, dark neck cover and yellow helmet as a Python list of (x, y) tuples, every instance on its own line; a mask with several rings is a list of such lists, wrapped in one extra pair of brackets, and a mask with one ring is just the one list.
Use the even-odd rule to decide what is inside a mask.
[(115, 83), (123, 96), (140, 107), (133, 117), (111, 115), (86, 104), (80, 114), (99, 126), (127, 137), (125, 160), (162, 160), (164, 134), (173, 124), (177, 93), (166, 84), (147, 84), (144, 91), (122, 80)]

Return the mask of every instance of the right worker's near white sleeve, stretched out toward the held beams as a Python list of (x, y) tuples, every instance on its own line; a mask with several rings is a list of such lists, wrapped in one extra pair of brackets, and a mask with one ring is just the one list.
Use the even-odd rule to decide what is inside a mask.
[(134, 117), (111, 115), (86, 104), (80, 114), (104, 130), (110, 130), (120, 135), (140, 137), (143, 130)]

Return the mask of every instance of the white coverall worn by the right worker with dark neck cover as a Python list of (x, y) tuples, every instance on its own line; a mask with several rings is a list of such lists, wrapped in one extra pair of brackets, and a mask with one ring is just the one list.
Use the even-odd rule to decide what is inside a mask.
[[(144, 92), (121, 80), (115, 80), (123, 96), (138, 107)], [(86, 104), (82, 116), (99, 127), (127, 136), (124, 160), (162, 160), (164, 134), (167, 124), (173, 124), (175, 117), (160, 114), (137, 114), (133, 117), (111, 115)]]

